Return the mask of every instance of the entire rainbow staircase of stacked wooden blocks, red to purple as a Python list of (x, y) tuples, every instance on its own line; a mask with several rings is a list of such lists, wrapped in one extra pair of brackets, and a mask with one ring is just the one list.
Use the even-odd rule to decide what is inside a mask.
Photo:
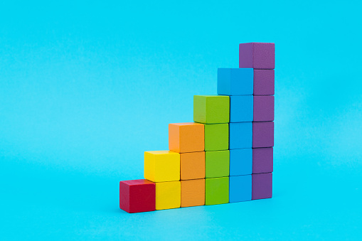
[(241, 43), (218, 95), (193, 97), (193, 122), (169, 124), (169, 151), (144, 152), (144, 179), (119, 183), (128, 213), (272, 198), (274, 43)]

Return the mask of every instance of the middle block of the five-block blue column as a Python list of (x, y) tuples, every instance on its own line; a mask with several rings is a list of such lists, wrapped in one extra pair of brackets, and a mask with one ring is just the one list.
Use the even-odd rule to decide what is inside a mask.
[(229, 124), (229, 149), (252, 148), (252, 122)]

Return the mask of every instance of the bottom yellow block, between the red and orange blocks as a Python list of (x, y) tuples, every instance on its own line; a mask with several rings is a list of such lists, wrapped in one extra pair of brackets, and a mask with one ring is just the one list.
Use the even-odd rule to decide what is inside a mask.
[(166, 181), (162, 183), (156, 183), (156, 210), (180, 208), (180, 205), (180, 181)]

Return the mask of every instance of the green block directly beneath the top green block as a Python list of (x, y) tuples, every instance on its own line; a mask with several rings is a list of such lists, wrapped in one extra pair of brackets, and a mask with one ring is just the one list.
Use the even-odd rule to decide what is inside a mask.
[(229, 124), (205, 124), (205, 151), (229, 149)]

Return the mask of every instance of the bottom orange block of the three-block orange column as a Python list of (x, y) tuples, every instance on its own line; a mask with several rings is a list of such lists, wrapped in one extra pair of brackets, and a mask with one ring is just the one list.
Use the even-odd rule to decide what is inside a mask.
[(205, 205), (205, 179), (181, 181), (181, 208)]

